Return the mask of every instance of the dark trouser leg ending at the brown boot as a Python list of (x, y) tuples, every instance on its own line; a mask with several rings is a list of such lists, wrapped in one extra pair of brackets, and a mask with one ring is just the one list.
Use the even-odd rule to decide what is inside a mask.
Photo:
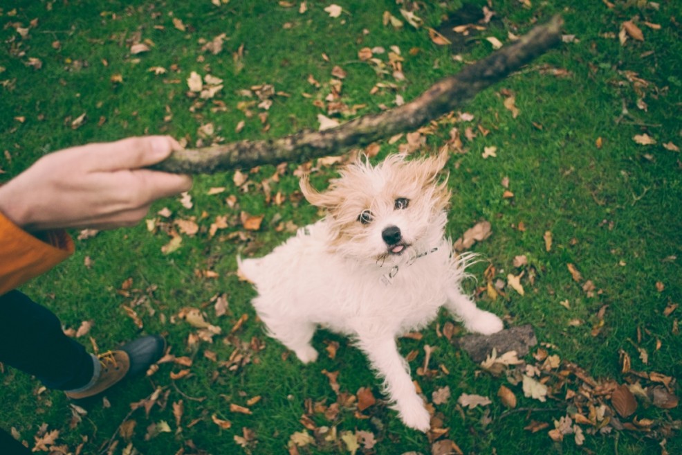
[(19, 291), (0, 296), (0, 362), (35, 375), (50, 389), (77, 389), (93, 375), (82, 344), (64, 334), (53, 312)]

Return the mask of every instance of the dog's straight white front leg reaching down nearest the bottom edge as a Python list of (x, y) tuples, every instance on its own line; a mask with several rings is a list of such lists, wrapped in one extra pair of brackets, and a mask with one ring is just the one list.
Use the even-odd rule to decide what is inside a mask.
[(424, 407), (424, 401), (416, 393), (412, 377), (409, 376), (409, 366), (400, 357), (396, 340), (359, 334), (358, 347), (369, 357), (378, 375), (383, 377), (385, 391), (390, 400), (395, 402), (394, 409), (400, 414), (400, 419), (408, 427), (428, 431), (431, 417)]

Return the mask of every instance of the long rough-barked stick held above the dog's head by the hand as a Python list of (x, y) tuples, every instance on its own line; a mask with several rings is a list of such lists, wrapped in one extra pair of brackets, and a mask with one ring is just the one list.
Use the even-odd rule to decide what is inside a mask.
[(560, 16), (553, 17), (547, 24), (536, 26), (513, 44), (466, 66), (456, 75), (436, 82), (418, 98), (400, 107), (361, 116), (319, 132), (304, 130), (279, 139), (246, 140), (178, 150), (152, 168), (184, 174), (210, 174), (283, 161), (308, 161), (415, 130), (460, 107), (479, 91), (504, 79), (555, 46), (561, 41), (562, 24)]

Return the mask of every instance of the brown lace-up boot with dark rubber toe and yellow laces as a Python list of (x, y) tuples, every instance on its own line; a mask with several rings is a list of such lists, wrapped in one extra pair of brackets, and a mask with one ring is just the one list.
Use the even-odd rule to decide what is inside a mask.
[(165, 348), (166, 341), (163, 337), (149, 335), (130, 341), (118, 350), (100, 354), (100, 374), (97, 379), (83, 389), (66, 391), (66, 396), (72, 400), (89, 398), (106, 391), (124, 377), (144, 373), (160, 359)]

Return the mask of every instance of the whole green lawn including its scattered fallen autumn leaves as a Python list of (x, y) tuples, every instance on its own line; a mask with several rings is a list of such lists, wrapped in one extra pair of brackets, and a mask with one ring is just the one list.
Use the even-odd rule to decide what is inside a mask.
[(3, 3), (0, 181), (94, 141), (199, 147), (378, 112), (489, 55), (488, 38), (560, 13), (553, 51), (366, 150), (450, 149), (448, 235), (490, 223), (466, 287), (508, 327), (533, 326), (524, 364), (473, 362), (445, 313), (400, 339), (434, 409), (425, 435), (344, 337), (317, 332), (310, 365), (269, 339), (235, 258), (322, 216), (299, 176), (324, 188), (340, 166), (289, 162), (197, 175), (131, 229), (73, 231), (75, 255), (21, 290), (89, 348), (162, 333), (167, 362), (77, 405), (4, 366), (3, 429), (64, 454), (682, 453), (682, 4), (490, 1), (489, 21), (457, 32), (459, 1), (336, 5), (338, 17), (329, 1)]

